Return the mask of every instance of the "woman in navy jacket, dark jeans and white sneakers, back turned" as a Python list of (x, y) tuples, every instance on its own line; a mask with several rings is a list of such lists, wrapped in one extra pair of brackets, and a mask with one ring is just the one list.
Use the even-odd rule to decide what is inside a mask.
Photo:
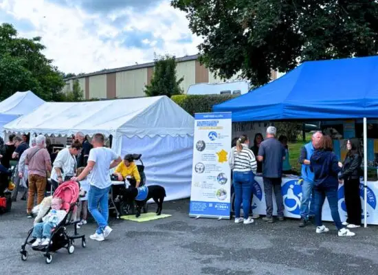
[(314, 173), (315, 186), (313, 188), (315, 195), (315, 223), (316, 233), (328, 232), (322, 223), (322, 209), (324, 200), (327, 198), (329, 208), (331, 209), (332, 219), (335, 222), (339, 236), (355, 236), (355, 233), (344, 228), (340, 220), (338, 209), (337, 190), (339, 181), (337, 174), (341, 168), (335, 153), (333, 153), (333, 144), (329, 135), (323, 135), (318, 144), (315, 145), (316, 151), (310, 159), (310, 169)]

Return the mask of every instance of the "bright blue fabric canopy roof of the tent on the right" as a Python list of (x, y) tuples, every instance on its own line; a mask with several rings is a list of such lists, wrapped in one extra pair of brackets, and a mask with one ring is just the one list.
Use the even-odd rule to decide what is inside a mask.
[(377, 118), (378, 56), (305, 62), (212, 110), (234, 122)]

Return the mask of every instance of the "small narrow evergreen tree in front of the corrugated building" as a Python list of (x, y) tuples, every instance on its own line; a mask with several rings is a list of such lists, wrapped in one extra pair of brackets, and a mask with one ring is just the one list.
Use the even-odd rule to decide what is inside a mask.
[(184, 78), (177, 80), (175, 56), (156, 56), (155, 68), (151, 85), (146, 85), (147, 96), (168, 96), (182, 94), (180, 83)]

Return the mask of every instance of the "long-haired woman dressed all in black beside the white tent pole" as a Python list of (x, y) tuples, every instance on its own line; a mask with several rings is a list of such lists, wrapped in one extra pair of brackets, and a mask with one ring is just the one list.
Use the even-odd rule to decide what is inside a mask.
[(357, 146), (348, 140), (346, 143), (348, 153), (342, 166), (340, 180), (344, 180), (344, 200), (348, 219), (343, 225), (347, 228), (359, 228), (361, 226), (361, 199), (359, 198), (359, 170), (362, 157)]

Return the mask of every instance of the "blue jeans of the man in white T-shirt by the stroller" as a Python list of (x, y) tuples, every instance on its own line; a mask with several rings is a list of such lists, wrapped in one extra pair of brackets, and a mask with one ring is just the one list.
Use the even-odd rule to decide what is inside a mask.
[[(97, 234), (102, 234), (104, 228), (108, 225), (109, 219), (109, 190), (111, 186), (100, 189), (96, 186), (91, 186), (88, 193), (88, 209), (91, 212), (93, 219), (98, 224), (96, 230)], [(99, 209), (100, 208), (100, 209)]]

